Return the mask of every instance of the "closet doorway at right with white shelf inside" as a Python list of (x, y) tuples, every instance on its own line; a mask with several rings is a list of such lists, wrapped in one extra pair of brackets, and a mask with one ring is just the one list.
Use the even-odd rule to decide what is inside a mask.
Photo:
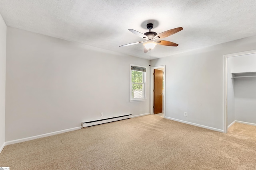
[(234, 123), (256, 125), (256, 117), (251, 115), (255, 104), (250, 102), (255, 99), (255, 88), (248, 91), (256, 82), (255, 55), (256, 50), (224, 55), (224, 133)]

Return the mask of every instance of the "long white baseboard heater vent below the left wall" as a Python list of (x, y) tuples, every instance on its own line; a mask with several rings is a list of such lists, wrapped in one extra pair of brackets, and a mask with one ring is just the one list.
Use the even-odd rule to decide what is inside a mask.
[(123, 119), (130, 119), (130, 118), (132, 118), (132, 114), (130, 114), (130, 115), (122, 115), (122, 116), (117, 116), (117, 117), (110, 117), (110, 118), (101, 119), (101, 120), (82, 122), (82, 128), (89, 127), (89, 126), (94, 126), (94, 125), (100, 125), (100, 124), (103, 124), (103, 123), (109, 123), (109, 122), (112, 122), (112, 121), (118, 121), (118, 120), (123, 120)]

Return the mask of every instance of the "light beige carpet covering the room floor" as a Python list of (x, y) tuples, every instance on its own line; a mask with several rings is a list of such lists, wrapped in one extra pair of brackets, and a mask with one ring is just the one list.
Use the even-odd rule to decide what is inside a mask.
[(256, 169), (256, 127), (229, 133), (147, 115), (8, 145), (11, 170)]

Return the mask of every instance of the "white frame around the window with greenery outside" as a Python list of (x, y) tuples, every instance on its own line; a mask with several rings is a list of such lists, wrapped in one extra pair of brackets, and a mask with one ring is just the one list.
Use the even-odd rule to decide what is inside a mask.
[(140, 101), (146, 101), (146, 72), (142, 72), (143, 74), (143, 98), (132, 98), (132, 66), (137, 66), (137, 67), (142, 67), (146, 69), (147, 72), (147, 67), (146, 66), (140, 66), (140, 65), (136, 65), (136, 64), (130, 64), (130, 102), (140, 102)]

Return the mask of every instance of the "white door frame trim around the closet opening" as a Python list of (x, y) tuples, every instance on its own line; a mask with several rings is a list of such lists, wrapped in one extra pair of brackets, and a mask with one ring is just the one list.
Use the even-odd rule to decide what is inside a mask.
[(229, 57), (236, 57), (236, 56), (240, 56), (240, 55), (248, 55), (248, 54), (254, 54), (256, 53), (256, 50), (252, 50), (252, 51), (244, 51), (244, 52), (240, 52), (240, 53), (233, 53), (233, 54), (227, 54), (227, 55), (223, 55), (223, 73), (224, 73), (224, 114), (223, 114), (223, 132), (224, 133), (228, 133), (228, 58)]

